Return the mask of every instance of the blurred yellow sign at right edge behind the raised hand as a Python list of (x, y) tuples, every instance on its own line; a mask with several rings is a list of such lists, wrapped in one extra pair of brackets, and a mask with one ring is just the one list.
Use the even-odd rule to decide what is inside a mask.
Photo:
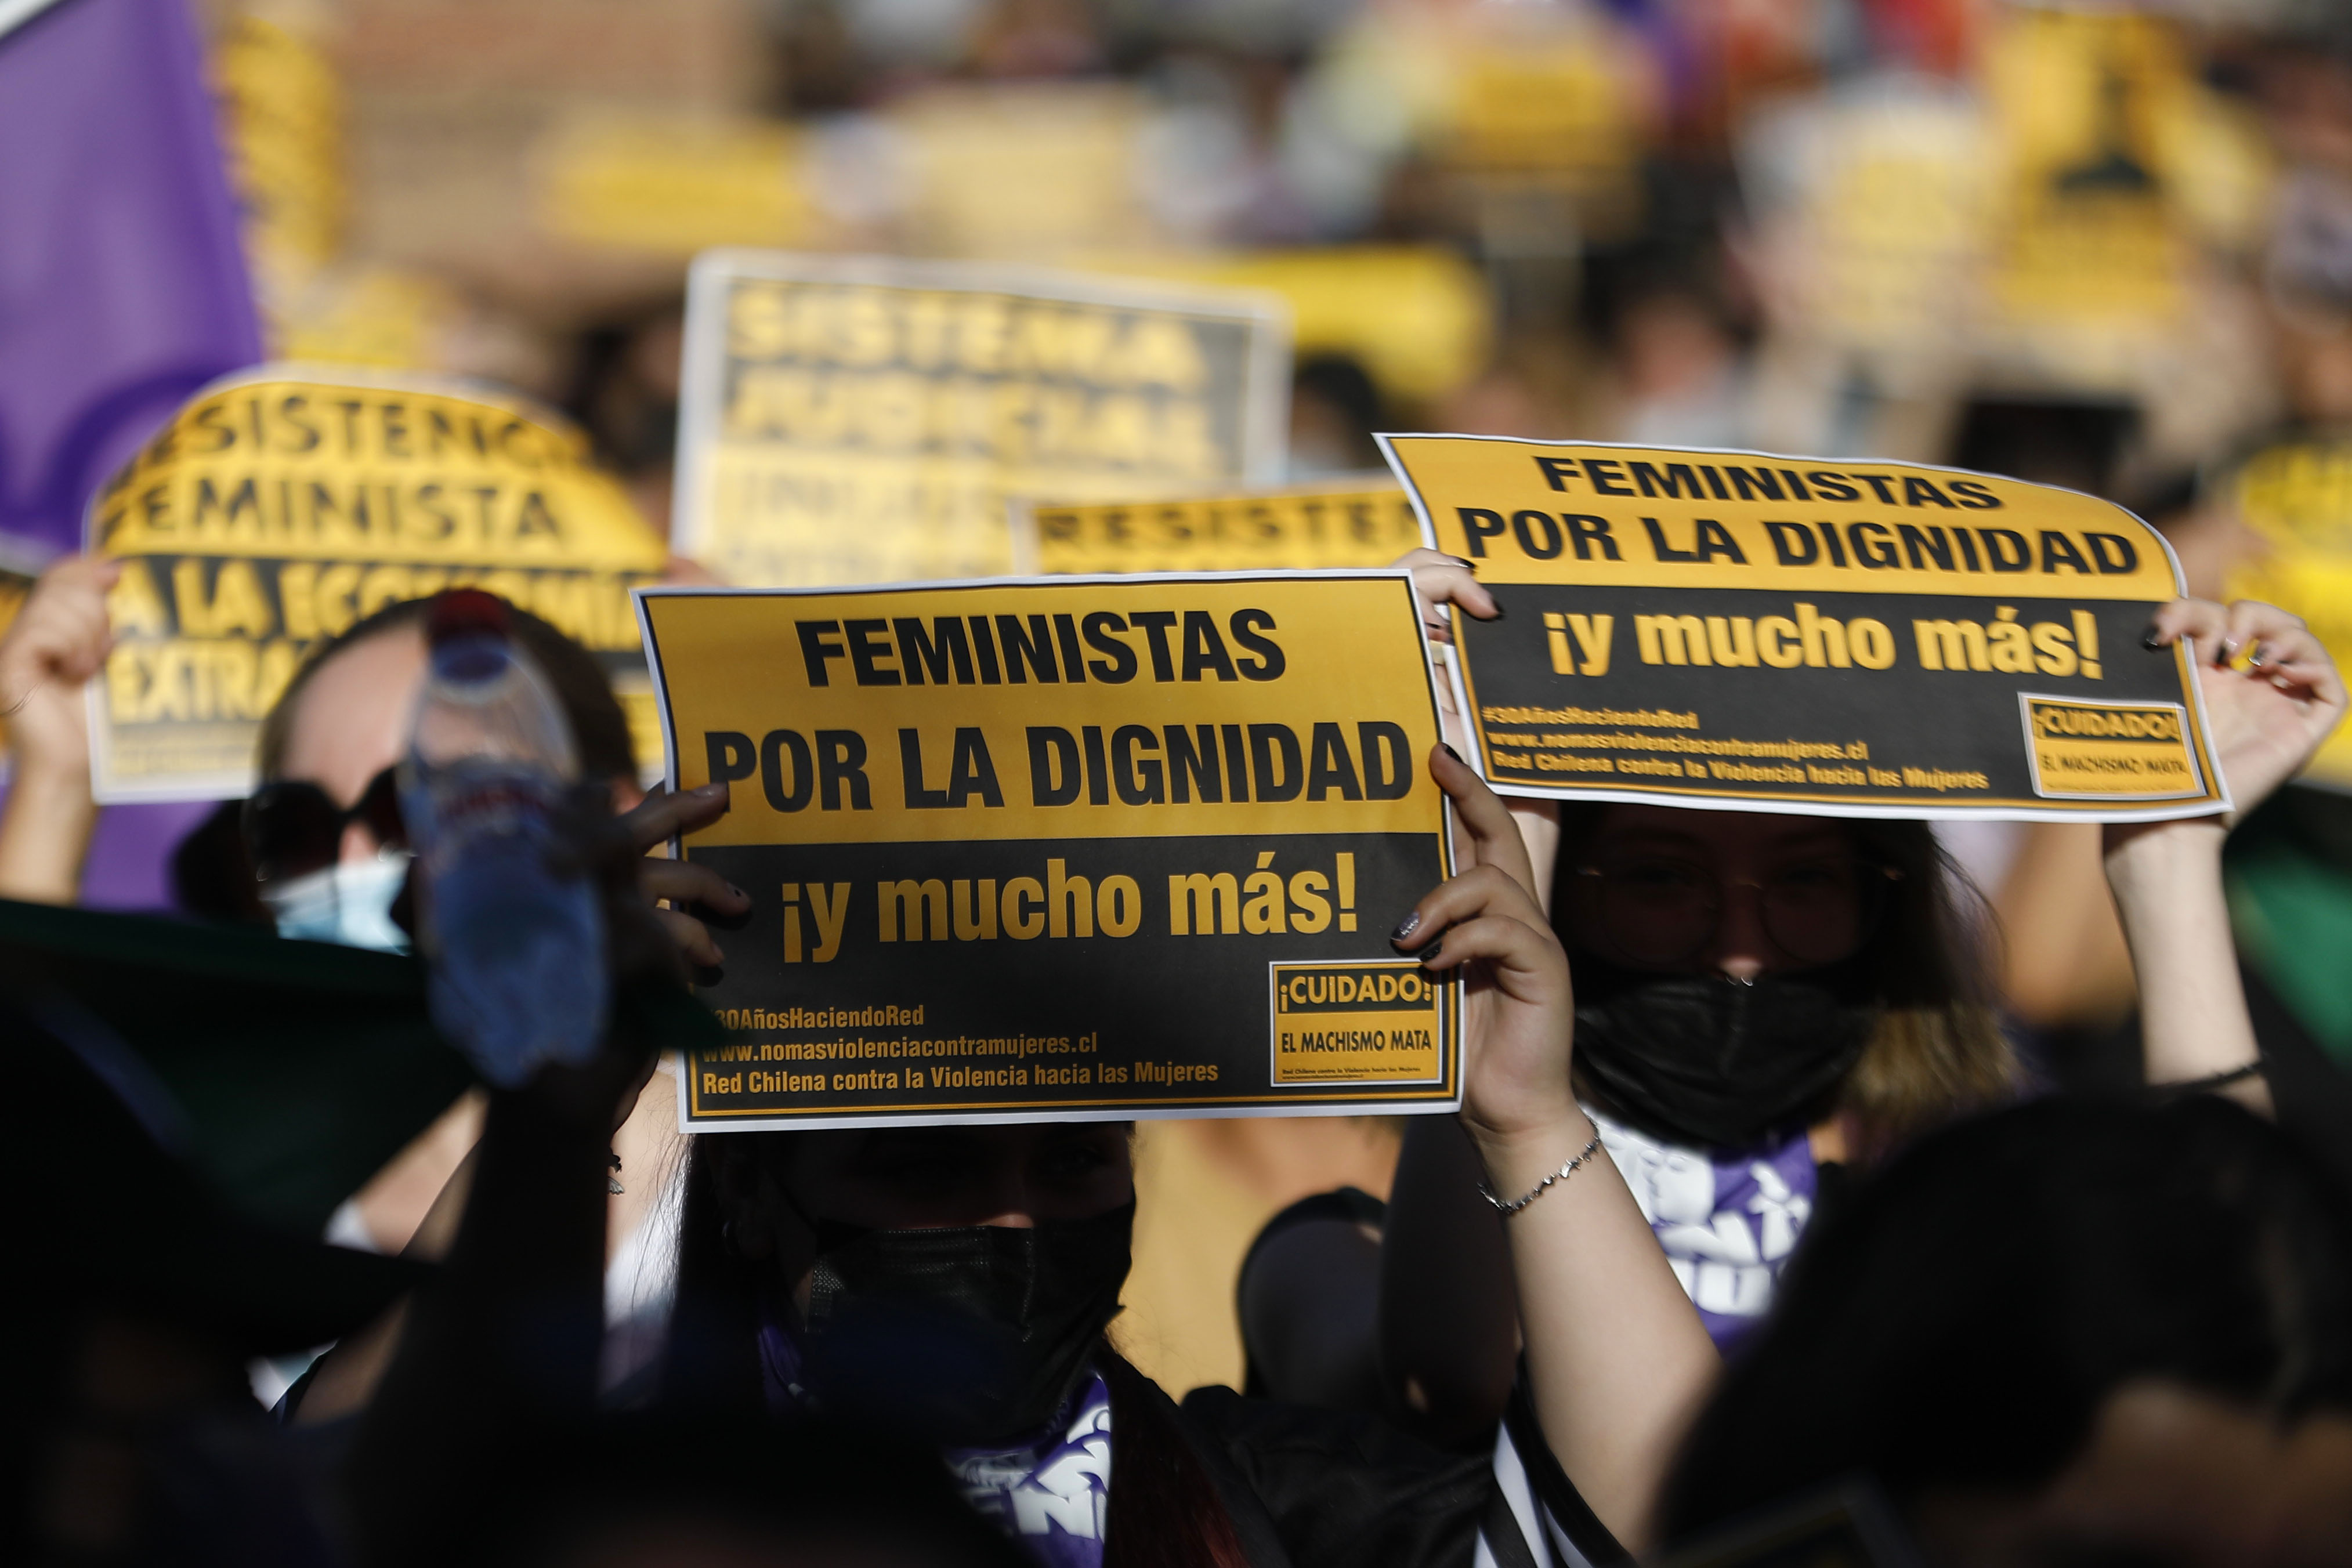
[[(2227, 595), (2291, 609), (2338, 665), (2352, 663), (2352, 442), (2258, 454), (2239, 470), (2237, 510), (2260, 552), (2230, 571)], [(2328, 736), (2303, 776), (2352, 788), (2352, 726)]]

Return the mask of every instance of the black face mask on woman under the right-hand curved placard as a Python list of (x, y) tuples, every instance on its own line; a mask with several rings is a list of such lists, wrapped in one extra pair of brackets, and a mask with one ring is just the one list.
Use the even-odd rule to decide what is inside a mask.
[(1870, 1044), (1879, 1004), (1856, 959), (1752, 985), (1644, 976), (1578, 954), (1576, 1067), (1635, 1128), (1755, 1147), (1820, 1107)]

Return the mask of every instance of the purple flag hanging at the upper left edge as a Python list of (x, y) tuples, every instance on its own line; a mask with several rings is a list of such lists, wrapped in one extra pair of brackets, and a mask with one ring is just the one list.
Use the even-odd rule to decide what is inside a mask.
[[(47, 557), (261, 327), (186, 0), (0, 0), (0, 545)], [(108, 809), (85, 900), (165, 903), (202, 813)]]

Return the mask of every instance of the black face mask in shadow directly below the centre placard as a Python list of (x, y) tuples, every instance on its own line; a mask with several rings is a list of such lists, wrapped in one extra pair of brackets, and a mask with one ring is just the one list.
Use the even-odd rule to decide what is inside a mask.
[(1120, 1312), (1136, 1206), (1030, 1229), (818, 1225), (802, 1378), (818, 1408), (931, 1443), (1025, 1436)]

